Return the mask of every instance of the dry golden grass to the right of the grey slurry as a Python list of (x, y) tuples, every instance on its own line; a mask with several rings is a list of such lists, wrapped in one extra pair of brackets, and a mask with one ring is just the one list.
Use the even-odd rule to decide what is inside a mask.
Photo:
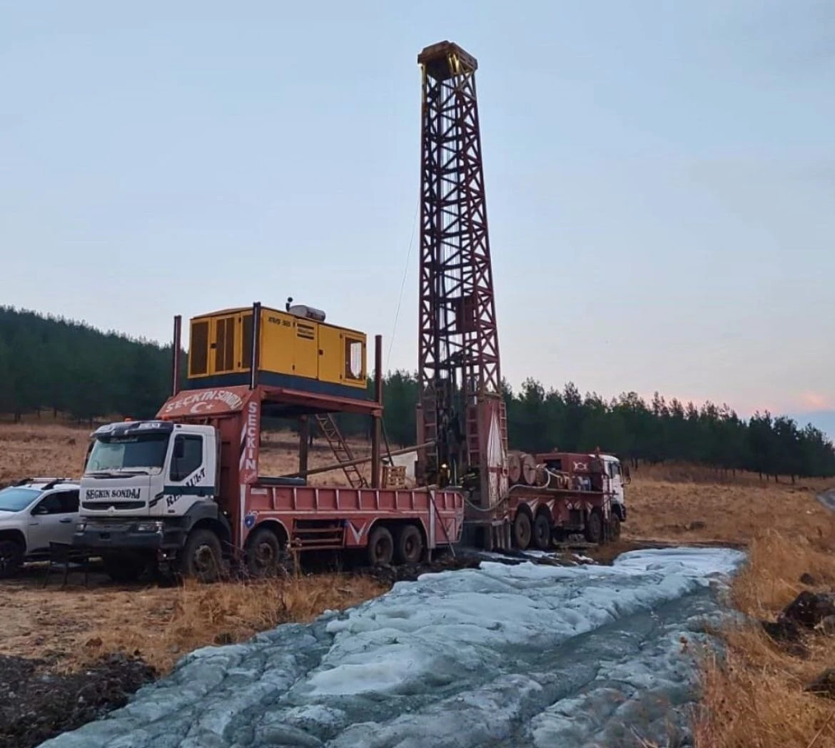
[[(731, 601), (744, 614), (773, 621), (803, 589), (835, 590), (835, 514), (816, 495), (832, 481), (756, 475), (727, 478), (688, 467), (633, 472), (625, 540), (733, 543), (748, 564)], [(814, 584), (802, 584), (811, 574)], [(812, 634), (807, 656), (779, 647), (757, 624), (722, 632), (725, 659), (705, 653), (698, 748), (822, 748), (835, 746), (835, 702), (806, 686), (835, 665), (835, 637)]]

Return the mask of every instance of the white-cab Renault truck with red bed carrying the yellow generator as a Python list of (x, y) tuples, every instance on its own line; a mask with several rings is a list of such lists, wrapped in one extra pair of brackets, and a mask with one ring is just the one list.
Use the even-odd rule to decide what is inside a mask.
[[(261, 577), (311, 550), (417, 563), (439, 544), (458, 542), (461, 493), (382, 485), (379, 336), (369, 397), (363, 333), (330, 325), (306, 306), (214, 312), (191, 320), (180, 391), (180, 326), (177, 317), (173, 394), (156, 417), (92, 435), (74, 544), (101, 555), (113, 579), (137, 579), (159, 565), (209, 581), (227, 562)], [(350, 447), (329, 417), (335, 412), (371, 420), (370, 483), (360, 461), (345, 458)], [(261, 474), (263, 417), (299, 419), (296, 475)], [(335, 467), (353, 483), (308, 484), (311, 417), (330, 426), (326, 434), (343, 457)]]

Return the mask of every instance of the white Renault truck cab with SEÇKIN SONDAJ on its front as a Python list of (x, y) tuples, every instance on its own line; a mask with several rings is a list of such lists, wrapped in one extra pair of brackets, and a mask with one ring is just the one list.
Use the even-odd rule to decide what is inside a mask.
[(212, 426), (154, 420), (99, 427), (81, 478), (73, 543), (100, 551), (110, 576), (127, 581), (152, 561), (175, 558), (195, 527), (228, 538), (215, 503), (219, 457)]

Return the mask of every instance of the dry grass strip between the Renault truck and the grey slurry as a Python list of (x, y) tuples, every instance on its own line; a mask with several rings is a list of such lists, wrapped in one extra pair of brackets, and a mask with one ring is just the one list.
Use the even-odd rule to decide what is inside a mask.
[[(80, 579), (60, 589), (42, 574), (3, 583), (0, 654), (38, 657), (74, 670), (122, 651), (164, 673), (192, 649), (231, 644), (278, 624), (305, 622), (382, 594), (374, 579), (319, 574), (287, 580), (120, 587)], [(98, 583), (98, 584), (97, 584)]]

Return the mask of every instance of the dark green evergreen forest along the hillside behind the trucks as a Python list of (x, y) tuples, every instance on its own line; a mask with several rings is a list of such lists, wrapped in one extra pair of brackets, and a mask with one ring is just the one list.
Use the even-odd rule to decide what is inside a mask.
[[(79, 421), (99, 417), (154, 416), (170, 394), (171, 346), (133, 340), (114, 331), (0, 307), (0, 412), (22, 417), (42, 409)], [(186, 356), (180, 357), (180, 383)], [(384, 378), (383, 406), (389, 444), (416, 443), (417, 376), (393, 371)], [(373, 382), (367, 382), (373, 397)], [(755, 413), (747, 421), (727, 405), (697, 408), (656, 392), (647, 403), (635, 392), (605, 401), (580, 396), (569, 382), (547, 389), (527, 379), (519, 392), (502, 383), (510, 447), (526, 452), (600, 447), (624, 460), (696, 462), (763, 477), (835, 475), (835, 449), (818, 429), (788, 417)], [(367, 417), (343, 414), (346, 436), (368, 437)], [(269, 427), (294, 427), (273, 420)]]

